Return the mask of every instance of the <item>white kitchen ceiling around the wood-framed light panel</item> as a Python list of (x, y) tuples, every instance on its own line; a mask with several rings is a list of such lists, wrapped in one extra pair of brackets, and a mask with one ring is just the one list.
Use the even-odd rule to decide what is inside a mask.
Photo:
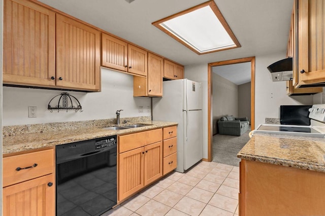
[(294, 0), (215, 0), (241, 48), (197, 55), (151, 23), (207, 0), (40, 0), (182, 65), (285, 52)]

